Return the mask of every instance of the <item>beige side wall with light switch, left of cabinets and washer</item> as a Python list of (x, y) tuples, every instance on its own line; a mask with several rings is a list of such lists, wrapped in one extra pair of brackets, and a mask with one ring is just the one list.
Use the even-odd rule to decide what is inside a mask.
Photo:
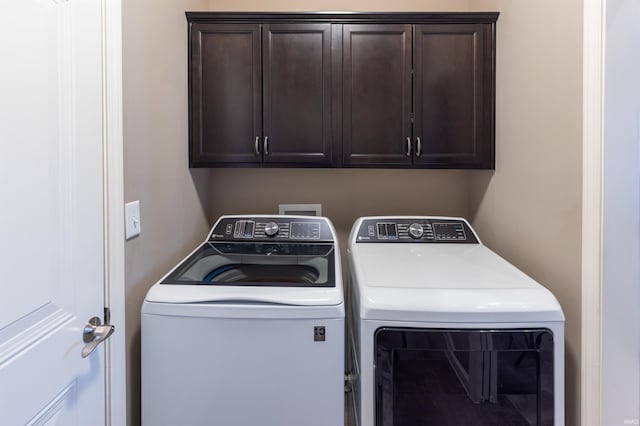
[(126, 244), (128, 424), (140, 423), (140, 307), (157, 279), (204, 238), (208, 170), (187, 161), (187, 23), (201, 1), (123, 2), (125, 200), (142, 234)]

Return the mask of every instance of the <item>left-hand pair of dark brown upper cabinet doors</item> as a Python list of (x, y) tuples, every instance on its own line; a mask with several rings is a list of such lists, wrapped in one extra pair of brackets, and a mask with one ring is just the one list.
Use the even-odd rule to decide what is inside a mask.
[(194, 22), (190, 165), (331, 165), (331, 24)]

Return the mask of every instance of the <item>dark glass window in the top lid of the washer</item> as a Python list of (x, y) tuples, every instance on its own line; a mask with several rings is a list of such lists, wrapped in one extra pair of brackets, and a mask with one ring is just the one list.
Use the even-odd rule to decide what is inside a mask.
[(206, 243), (163, 284), (335, 287), (332, 244)]

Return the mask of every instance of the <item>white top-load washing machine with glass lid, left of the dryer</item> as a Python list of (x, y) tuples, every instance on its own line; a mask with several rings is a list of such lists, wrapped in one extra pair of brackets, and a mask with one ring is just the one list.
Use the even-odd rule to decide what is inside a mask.
[(142, 306), (142, 424), (344, 421), (340, 250), (329, 220), (224, 216)]

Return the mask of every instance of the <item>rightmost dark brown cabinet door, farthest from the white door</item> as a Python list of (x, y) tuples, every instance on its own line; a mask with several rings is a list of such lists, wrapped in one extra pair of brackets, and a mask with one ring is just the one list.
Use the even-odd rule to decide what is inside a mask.
[(416, 164), (494, 167), (492, 51), (489, 24), (416, 26)]

